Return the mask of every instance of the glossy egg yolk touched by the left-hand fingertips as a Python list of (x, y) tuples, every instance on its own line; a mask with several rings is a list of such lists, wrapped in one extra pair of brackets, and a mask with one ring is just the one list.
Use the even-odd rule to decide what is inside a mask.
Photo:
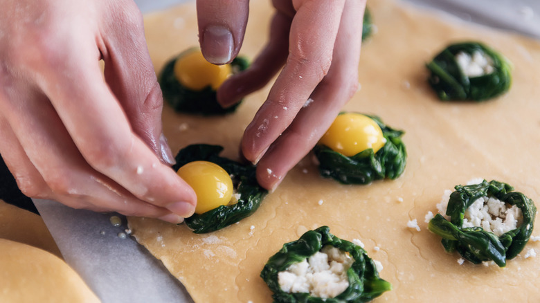
[(196, 214), (227, 205), (231, 201), (233, 181), (221, 166), (207, 161), (194, 161), (180, 167), (177, 174), (197, 194)]

